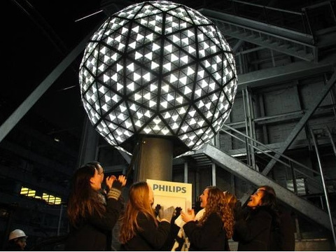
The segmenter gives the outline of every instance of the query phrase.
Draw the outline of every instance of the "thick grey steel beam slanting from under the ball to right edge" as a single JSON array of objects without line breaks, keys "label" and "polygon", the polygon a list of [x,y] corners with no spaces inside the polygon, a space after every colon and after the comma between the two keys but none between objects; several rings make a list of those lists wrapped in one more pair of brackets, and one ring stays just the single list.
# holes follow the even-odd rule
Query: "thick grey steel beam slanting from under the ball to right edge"
[{"label": "thick grey steel beam slanting from under the ball to right edge", "polygon": [[211,158],[213,162],[216,162],[219,167],[226,169],[228,172],[238,176],[241,179],[244,179],[245,181],[253,183],[255,186],[272,186],[272,188],[274,188],[276,191],[276,197],[281,200],[281,202],[288,204],[290,207],[293,207],[293,209],[296,209],[304,216],[310,218],[312,221],[315,221],[316,223],[323,225],[323,227],[330,230],[330,219],[325,211],[319,209],[314,204],[303,200],[294,193],[290,192],[290,190],[283,188],[279,184],[269,179],[267,176],[260,174],[260,172],[256,172],[244,163],[239,162],[239,160],[232,158],[227,153],[224,153],[210,144],[204,146],[204,148],[197,151],[197,153],[204,153],[205,155],[208,155],[209,158]]}]

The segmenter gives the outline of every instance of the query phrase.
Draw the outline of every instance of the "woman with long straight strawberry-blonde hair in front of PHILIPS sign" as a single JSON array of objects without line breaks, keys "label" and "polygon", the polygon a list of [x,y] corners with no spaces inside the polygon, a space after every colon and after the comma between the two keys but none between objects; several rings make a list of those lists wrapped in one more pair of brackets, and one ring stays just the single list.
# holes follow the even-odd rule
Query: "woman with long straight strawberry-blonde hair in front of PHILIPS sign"
[{"label": "woman with long straight strawberry-blonde hair in front of PHILIPS sign", "polygon": [[165,245],[174,209],[166,212],[158,221],[153,203],[153,190],[148,183],[140,181],[130,187],[120,225],[120,243],[125,250],[158,251]]}]

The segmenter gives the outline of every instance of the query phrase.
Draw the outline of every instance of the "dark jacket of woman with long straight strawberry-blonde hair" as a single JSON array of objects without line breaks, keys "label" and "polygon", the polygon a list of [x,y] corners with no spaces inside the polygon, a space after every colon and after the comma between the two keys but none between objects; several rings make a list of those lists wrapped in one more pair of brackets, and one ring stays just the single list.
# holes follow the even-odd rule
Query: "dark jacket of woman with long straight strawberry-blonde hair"
[{"label": "dark jacket of woman with long straight strawberry-blonde hair", "polygon": [[139,212],[137,216],[139,230],[126,244],[123,249],[127,251],[158,251],[165,245],[167,241],[170,223],[162,221],[155,225],[151,218],[147,218],[145,214]]}]

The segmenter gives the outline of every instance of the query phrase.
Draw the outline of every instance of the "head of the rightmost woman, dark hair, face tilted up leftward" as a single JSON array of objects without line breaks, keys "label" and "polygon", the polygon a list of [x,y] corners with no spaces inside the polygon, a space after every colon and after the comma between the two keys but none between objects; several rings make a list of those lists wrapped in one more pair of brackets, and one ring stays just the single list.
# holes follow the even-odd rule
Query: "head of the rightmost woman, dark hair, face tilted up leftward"
[{"label": "head of the rightmost woman, dark hair, face tilted up leftward", "polygon": [[276,207],[276,193],[270,186],[260,186],[247,203],[248,207],[255,209],[255,207],[267,206],[272,209]]}]

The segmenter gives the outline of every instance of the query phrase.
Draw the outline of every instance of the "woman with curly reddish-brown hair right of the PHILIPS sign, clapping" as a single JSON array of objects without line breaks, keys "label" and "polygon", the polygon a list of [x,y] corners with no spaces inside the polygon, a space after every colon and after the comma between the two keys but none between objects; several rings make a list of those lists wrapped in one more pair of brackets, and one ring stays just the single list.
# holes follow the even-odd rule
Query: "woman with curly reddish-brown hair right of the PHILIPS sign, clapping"
[{"label": "woman with curly reddish-brown hair right of the PHILIPS sign, clapping", "polygon": [[189,251],[227,251],[234,218],[232,209],[225,203],[223,191],[208,186],[200,201],[205,210],[199,221],[196,221],[193,209],[181,213],[186,222],[183,230],[190,241]]}]

